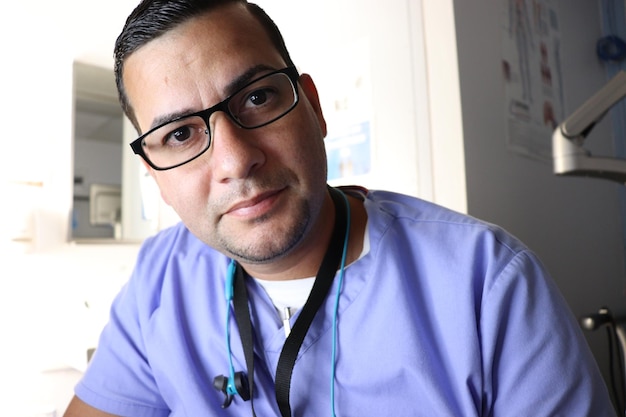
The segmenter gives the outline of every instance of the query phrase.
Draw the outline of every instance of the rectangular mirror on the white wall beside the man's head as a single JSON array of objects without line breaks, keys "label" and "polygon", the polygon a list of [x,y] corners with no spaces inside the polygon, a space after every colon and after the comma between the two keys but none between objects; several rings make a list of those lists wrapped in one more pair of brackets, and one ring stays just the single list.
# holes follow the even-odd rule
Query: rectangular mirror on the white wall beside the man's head
[{"label": "rectangular mirror on the white wall beside the man's head", "polygon": [[74,63],[72,240],[122,237],[124,115],[112,69]]}]

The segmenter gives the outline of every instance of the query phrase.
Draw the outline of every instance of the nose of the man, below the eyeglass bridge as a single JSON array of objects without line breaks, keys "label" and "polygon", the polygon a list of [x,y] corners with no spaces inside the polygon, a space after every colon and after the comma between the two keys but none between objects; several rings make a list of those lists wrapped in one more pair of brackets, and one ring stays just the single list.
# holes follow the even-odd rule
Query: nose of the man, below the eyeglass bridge
[{"label": "nose of the man, below the eyeglass bridge", "polygon": [[265,163],[265,153],[255,131],[237,126],[226,114],[217,112],[209,120],[211,165],[219,182],[244,179]]}]

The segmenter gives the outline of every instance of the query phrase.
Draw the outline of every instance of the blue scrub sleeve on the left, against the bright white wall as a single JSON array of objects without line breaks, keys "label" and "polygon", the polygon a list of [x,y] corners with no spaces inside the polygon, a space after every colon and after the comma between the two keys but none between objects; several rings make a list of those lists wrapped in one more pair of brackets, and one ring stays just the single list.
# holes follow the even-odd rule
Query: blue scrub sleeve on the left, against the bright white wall
[{"label": "blue scrub sleeve on the left, against the bright white wall", "polygon": [[170,410],[159,394],[142,334],[142,323],[156,308],[147,300],[157,297],[146,296],[154,290],[140,287],[140,282],[135,270],[113,302],[109,322],[75,393],[82,401],[108,413],[166,417]]}]

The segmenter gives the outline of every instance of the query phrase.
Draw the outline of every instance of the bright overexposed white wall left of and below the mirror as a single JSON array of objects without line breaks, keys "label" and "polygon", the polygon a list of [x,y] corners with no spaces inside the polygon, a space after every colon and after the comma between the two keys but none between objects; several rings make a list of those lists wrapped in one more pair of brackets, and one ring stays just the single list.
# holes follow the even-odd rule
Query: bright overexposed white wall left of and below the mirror
[{"label": "bright overexposed white wall left of and below the mirror", "polygon": [[[17,3],[3,5],[12,18],[0,25],[0,414],[60,416],[137,248],[67,244],[79,57],[68,27],[53,16],[56,7],[75,9]],[[84,16],[93,16],[90,7]]]}]

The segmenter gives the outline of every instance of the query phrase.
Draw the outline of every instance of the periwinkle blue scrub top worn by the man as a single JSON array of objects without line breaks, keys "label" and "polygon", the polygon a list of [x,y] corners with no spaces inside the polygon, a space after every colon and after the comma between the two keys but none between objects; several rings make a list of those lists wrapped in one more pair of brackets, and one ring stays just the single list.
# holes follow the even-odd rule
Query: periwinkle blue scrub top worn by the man
[{"label": "periwinkle blue scrub top worn by the man", "polygon": [[[399,194],[365,198],[369,252],[339,299],[336,415],[613,416],[575,318],[545,269],[502,229]],[[228,374],[228,259],[182,224],[147,240],[84,378],[83,401],[134,417],[251,415],[221,409]],[[313,321],[291,382],[293,416],[331,415],[334,294]],[[259,417],[280,416],[274,376],[285,334],[249,280]],[[297,319],[297,313],[292,323]],[[246,371],[231,319],[236,371]]]}]

